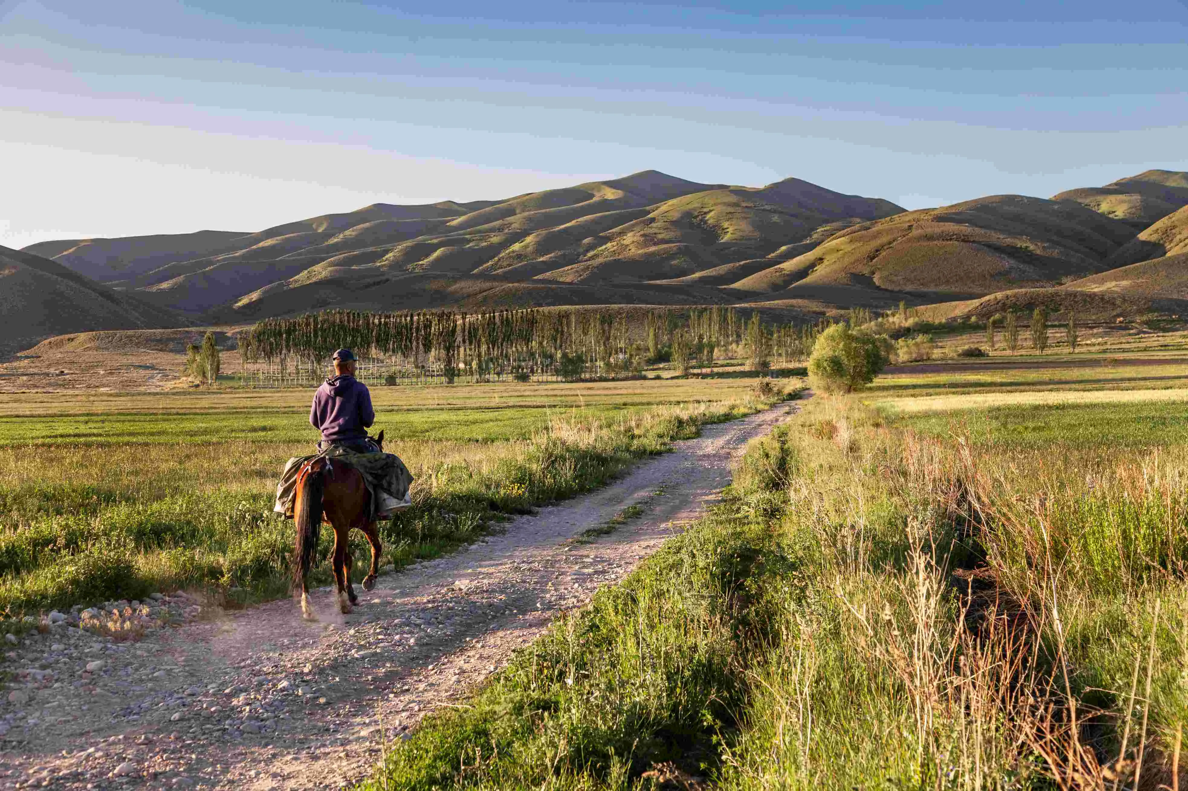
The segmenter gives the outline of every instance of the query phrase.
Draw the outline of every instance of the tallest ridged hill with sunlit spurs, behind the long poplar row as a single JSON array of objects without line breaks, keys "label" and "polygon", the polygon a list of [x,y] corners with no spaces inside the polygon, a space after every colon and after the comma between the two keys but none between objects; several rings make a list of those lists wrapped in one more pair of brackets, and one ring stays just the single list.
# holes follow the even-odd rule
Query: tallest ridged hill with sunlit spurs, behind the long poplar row
[{"label": "tallest ridged hill with sunlit spurs, behind the long poplar row", "polygon": [[[742,188],[643,171],[501,201],[377,203],[229,242],[225,234],[202,251],[154,241],[109,274],[154,305],[207,321],[328,306],[726,304],[735,296],[716,286],[756,267],[682,278],[811,249],[899,211],[800,179]],[[113,241],[131,249],[138,239]],[[45,249],[78,261],[65,242]]]}]

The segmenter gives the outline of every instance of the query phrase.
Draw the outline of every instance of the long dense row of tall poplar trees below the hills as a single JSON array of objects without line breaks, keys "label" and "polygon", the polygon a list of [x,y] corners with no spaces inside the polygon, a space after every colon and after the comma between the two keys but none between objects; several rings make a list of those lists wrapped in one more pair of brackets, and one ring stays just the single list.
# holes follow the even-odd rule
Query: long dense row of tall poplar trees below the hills
[{"label": "long dense row of tall poplar trees below the hills", "polygon": [[678,373],[712,368],[727,356],[748,367],[804,360],[823,325],[767,324],[729,308],[647,310],[422,310],[390,314],[328,310],[268,318],[240,338],[254,374],[316,378],[335,349],[362,357],[362,374],[453,384],[511,376],[621,378],[668,361]]}]

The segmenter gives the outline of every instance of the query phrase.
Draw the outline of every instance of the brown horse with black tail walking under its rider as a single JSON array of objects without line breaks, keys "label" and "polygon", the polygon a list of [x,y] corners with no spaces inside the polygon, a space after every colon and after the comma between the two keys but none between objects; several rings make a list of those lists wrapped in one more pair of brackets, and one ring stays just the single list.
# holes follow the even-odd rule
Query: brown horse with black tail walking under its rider
[{"label": "brown horse with black tail walking under its rider", "polygon": [[[384,432],[372,437],[380,450],[384,448]],[[293,589],[301,588],[302,614],[315,620],[314,609],[309,605],[309,589],[305,578],[314,564],[317,552],[317,539],[322,527],[322,514],[334,527],[334,555],[331,568],[339,609],[349,613],[352,606],[359,603],[359,596],[350,584],[350,529],[364,531],[372,548],[372,564],[364,577],[364,590],[375,587],[375,575],[379,571],[379,553],[381,546],[375,523],[371,521],[371,493],[364,483],[364,476],[354,467],[334,458],[318,457],[307,463],[297,474],[297,493],[293,504],[293,517],[297,521],[297,545],[293,549]]]}]

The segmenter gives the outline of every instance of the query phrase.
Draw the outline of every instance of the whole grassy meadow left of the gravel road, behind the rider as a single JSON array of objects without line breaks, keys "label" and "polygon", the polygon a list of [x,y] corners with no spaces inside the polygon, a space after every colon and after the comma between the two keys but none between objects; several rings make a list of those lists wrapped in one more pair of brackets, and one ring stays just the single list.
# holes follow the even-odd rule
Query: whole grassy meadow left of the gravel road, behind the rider
[{"label": "whole grassy meadow left of the gravel road, behind the rider", "polygon": [[[507,514],[596,487],[703,422],[756,409],[752,384],[377,387],[375,430],[416,476],[413,507],[383,530],[384,562],[434,557]],[[272,498],[284,461],[317,439],[310,398],[12,397],[0,420],[0,613],[177,588],[226,606],[284,595],[292,523],[271,513]]]}]

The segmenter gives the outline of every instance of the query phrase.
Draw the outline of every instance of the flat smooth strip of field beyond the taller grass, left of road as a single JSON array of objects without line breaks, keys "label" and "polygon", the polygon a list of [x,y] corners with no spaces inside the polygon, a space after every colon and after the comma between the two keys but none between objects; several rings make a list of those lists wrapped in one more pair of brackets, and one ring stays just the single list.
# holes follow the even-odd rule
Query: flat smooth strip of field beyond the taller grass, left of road
[{"label": "flat smooth strip of field beyond the taller grass, left of road", "polygon": [[[697,400],[744,396],[750,381],[656,380],[596,385],[377,387],[375,431],[392,441],[503,442],[530,437],[558,417],[615,418]],[[309,391],[14,397],[0,445],[314,442]]]}]

